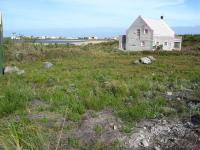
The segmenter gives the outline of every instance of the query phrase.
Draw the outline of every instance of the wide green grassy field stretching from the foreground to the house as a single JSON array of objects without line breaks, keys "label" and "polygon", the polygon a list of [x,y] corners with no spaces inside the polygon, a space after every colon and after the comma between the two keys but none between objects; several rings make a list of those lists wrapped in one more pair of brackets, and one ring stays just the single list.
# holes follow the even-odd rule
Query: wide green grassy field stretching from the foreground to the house
[{"label": "wide green grassy field stretching from the foreground to the house", "polygon": [[[59,138],[51,141],[47,134],[59,133],[60,125],[50,130],[42,124],[60,116],[80,123],[89,110],[112,109],[125,124],[122,132],[144,119],[187,118],[191,110],[163,94],[192,89],[200,97],[200,57],[190,53],[122,53],[117,42],[44,46],[6,41],[4,49],[5,65],[25,74],[0,77],[0,149],[50,149],[52,144],[61,149]],[[156,58],[152,64],[133,63],[149,55]],[[53,67],[44,69],[44,61]],[[38,117],[41,114],[52,118]],[[98,126],[94,130],[102,132]],[[80,147],[73,137],[67,143]]]}]

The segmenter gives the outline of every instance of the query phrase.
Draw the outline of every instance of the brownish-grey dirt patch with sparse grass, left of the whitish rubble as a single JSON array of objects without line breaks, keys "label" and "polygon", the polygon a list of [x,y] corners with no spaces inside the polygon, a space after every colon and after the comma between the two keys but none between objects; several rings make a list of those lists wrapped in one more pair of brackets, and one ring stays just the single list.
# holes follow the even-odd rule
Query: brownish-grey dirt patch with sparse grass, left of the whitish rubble
[{"label": "brownish-grey dirt patch with sparse grass, left of the whitish rubble", "polygon": [[72,130],[64,133],[61,139],[62,149],[70,149],[70,138],[79,141],[80,149],[91,148],[94,143],[100,141],[104,145],[112,145],[118,139],[123,138],[120,132],[122,121],[113,115],[112,110],[101,112],[88,111],[81,122]]}]

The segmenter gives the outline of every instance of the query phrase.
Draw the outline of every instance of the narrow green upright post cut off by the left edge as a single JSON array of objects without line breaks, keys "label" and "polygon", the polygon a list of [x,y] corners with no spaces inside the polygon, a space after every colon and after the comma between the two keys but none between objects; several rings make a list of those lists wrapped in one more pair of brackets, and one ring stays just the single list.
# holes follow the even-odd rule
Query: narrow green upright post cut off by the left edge
[{"label": "narrow green upright post cut off by the left edge", "polygon": [[0,75],[3,75],[3,19],[0,12]]}]

